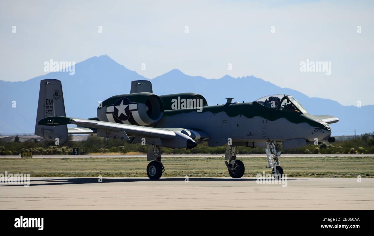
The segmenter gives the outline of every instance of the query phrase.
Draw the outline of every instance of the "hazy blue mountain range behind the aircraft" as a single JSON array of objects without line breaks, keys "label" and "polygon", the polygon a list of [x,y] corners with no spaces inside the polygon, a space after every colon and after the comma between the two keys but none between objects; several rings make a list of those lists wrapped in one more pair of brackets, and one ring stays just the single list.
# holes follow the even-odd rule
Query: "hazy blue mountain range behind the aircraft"
[{"label": "hazy blue mountain range behind the aircraft", "polygon": [[[129,93],[132,80],[149,80],[107,55],[77,63],[74,75],[69,75],[69,72],[50,72],[27,81],[0,80],[0,134],[34,133],[40,80],[49,78],[61,80],[66,115],[78,118],[96,117],[99,101]],[[357,134],[374,131],[371,121],[374,105],[361,108],[343,106],[334,100],[308,97],[299,91],[282,88],[254,76],[233,78],[225,75],[219,79],[206,79],[173,69],[150,81],[156,94],[200,93],[208,105],[223,104],[226,97],[234,97],[233,101],[251,102],[270,94],[289,94],[312,115],[338,117],[339,122],[331,124],[333,136],[352,135],[355,130]],[[349,93],[343,91],[342,94],[349,96]],[[13,101],[16,102],[15,108],[12,107]]]}]

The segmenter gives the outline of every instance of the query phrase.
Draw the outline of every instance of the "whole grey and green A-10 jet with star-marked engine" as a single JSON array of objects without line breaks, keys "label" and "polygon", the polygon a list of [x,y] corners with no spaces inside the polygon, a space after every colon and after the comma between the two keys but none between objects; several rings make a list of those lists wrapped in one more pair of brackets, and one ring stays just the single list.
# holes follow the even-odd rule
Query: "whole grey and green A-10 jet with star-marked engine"
[{"label": "whole grey and green A-10 jet with star-marked engine", "polygon": [[[269,167],[276,177],[281,151],[307,143],[334,142],[328,124],[338,122],[329,115],[310,115],[292,96],[276,94],[254,102],[234,102],[208,106],[196,93],[158,96],[150,81],[132,81],[129,94],[110,97],[99,104],[97,118],[81,119],[65,115],[61,81],[41,80],[35,134],[64,143],[68,134],[97,134],[129,143],[148,145],[150,179],[165,171],[161,147],[196,147],[206,141],[210,147],[226,145],[225,161],[229,174],[240,178],[243,162],[236,159],[236,147],[266,148]],[[76,128],[67,127],[75,124]]]}]

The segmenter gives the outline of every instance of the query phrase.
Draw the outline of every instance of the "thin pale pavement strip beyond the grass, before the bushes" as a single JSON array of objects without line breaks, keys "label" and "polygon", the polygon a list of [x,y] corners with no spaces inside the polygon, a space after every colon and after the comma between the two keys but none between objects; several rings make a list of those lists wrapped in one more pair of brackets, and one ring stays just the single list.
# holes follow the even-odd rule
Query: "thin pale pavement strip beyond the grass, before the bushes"
[{"label": "thin pale pavement strip beyond the grass, before the bushes", "polygon": [[[224,155],[212,155],[212,154],[163,154],[162,157],[220,157]],[[248,154],[248,155],[236,155],[240,157],[266,157],[266,154]],[[373,156],[374,154],[282,154],[283,157],[344,157],[344,156]],[[119,157],[141,157],[146,158],[147,155],[135,154],[135,155],[34,155],[33,158],[119,158]],[[0,158],[21,158],[21,156],[0,156]]]}]

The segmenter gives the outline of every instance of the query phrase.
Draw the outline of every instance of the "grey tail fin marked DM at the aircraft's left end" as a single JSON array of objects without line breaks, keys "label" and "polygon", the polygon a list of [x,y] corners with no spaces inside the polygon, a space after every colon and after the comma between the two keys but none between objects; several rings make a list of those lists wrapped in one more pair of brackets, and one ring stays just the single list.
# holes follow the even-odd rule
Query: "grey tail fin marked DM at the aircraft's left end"
[{"label": "grey tail fin marked DM at the aircraft's left end", "polygon": [[53,141],[56,141],[56,138],[58,138],[59,143],[64,143],[68,138],[67,125],[38,125],[41,119],[52,116],[66,116],[61,81],[53,79],[40,80],[35,134]]}]

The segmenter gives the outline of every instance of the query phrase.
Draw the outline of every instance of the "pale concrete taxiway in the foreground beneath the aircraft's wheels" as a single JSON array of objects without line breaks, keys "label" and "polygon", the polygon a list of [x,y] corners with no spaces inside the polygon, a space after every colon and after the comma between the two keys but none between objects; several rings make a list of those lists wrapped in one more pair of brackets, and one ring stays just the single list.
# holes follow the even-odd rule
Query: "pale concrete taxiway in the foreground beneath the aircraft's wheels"
[{"label": "pale concrete taxiway in the foreground beneath the aircraft's wheels", "polygon": [[374,209],[374,178],[34,177],[0,184],[0,209]]}]

